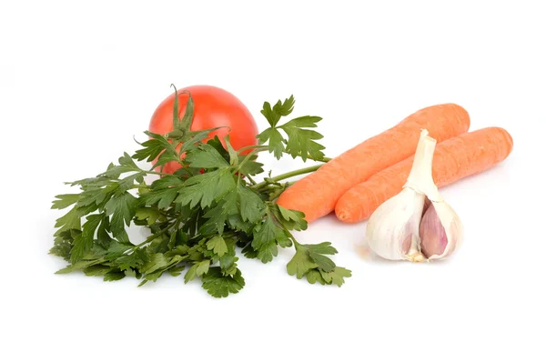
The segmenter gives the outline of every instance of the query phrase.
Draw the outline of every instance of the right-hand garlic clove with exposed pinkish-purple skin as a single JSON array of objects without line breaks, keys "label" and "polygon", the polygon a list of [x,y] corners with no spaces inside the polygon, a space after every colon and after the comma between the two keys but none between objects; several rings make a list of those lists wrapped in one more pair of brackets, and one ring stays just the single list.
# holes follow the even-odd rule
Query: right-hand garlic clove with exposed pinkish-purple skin
[{"label": "right-hand garlic clove with exposed pinkish-purple skin", "polygon": [[432,202],[420,222],[420,247],[429,260],[450,256],[462,240],[462,223],[446,202]]}]

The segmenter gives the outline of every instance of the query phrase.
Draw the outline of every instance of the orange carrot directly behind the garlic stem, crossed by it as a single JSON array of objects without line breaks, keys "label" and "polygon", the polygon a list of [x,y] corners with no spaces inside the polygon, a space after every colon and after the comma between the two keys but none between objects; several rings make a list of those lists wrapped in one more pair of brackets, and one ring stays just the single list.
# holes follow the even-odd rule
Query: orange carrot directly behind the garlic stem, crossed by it
[{"label": "orange carrot directly behind the garlic stem, crossed by it", "polygon": [[[436,186],[450,185],[463,177],[495,166],[512,150],[510,134],[500,127],[482,128],[436,145],[432,178]],[[413,156],[380,171],[339,198],[336,216],[356,223],[371,216],[381,204],[397,195],[410,175]]]}]

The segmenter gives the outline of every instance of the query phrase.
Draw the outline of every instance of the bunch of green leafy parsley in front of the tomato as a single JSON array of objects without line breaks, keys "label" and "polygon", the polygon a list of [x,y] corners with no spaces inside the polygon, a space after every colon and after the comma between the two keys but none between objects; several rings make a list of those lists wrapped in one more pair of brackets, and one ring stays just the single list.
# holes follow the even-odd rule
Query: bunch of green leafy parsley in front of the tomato
[{"label": "bunch of green leafy parsley in front of the tomato", "polygon": [[[264,172],[257,161],[263,151],[277,158],[288,154],[304,161],[328,161],[324,146],[317,142],[322,136],[309,129],[321,118],[301,116],[279,125],[292,113],[294,97],[274,106],[266,102],[261,113],[270,127],[258,135],[259,145],[236,151],[228,137],[226,146],[217,136],[203,142],[217,128],[190,131],[193,99],[188,96],[182,118],[175,96],[172,132],[145,132],[149,140],[139,144],[142,148],[133,156],[125,153],[106,172],[68,183],[79,187],[79,193],[56,196],[52,208],[70,207],[56,220],[50,249],[50,254],[70,264],[56,273],[81,270],[105,281],[136,277],[142,286],[165,273],[179,276],[186,269],[185,283],[199,278],[212,297],[227,297],[245,286],[238,255],[268,263],[278,255],[279,246],[294,246],[296,253],[287,265],[290,276],[340,287],[350,271],[329,258],[337,250],[328,242],[299,244],[291,231],[307,228],[303,213],[274,202],[289,185],[280,181],[319,166],[275,177],[269,172],[260,183],[253,179]],[[153,165],[143,169],[135,160]],[[157,171],[173,161],[182,166],[173,175]],[[160,177],[147,183],[148,175]],[[150,236],[140,244],[131,243],[126,233],[131,225],[147,227]]]}]

